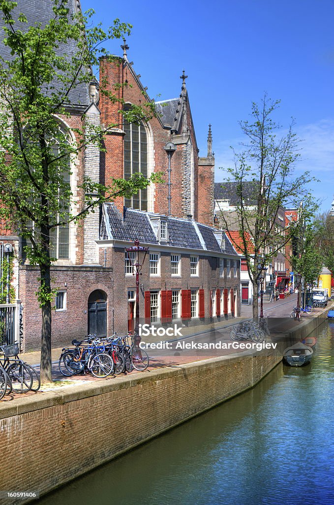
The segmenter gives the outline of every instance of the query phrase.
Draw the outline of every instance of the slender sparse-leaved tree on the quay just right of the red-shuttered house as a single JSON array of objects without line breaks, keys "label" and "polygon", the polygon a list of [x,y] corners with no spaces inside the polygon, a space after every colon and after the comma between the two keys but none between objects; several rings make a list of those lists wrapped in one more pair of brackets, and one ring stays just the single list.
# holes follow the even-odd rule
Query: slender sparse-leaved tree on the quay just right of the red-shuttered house
[{"label": "slender sparse-leaved tree on the quay just right of the red-shuttered house", "polygon": [[[241,121],[240,127],[247,141],[243,150],[234,151],[234,166],[227,169],[229,180],[235,182],[237,204],[233,213],[222,212],[228,231],[238,229],[242,239],[249,278],[253,285],[253,317],[258,316],[258,282],[265,268],[295,233],[296,223],[289,232],[279,222],[279,211],[284,205],[298,207],[307,193],[309,172],[294,175],[294,164],[299,157],[298,139],[293,132],[294,122],[287,133],[272,116],[279,107],[264,94],[261,104],[252,104],[251,121]],[[251,237],[251,240],[249,240]]]}]

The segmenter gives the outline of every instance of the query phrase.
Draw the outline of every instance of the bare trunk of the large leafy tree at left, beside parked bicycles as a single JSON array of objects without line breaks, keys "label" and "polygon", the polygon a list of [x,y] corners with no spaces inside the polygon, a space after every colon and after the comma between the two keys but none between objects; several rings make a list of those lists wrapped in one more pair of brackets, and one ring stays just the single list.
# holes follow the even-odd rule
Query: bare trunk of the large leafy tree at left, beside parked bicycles
[{"label": "bare trunk of the large leafy tree at left, beside parked bicycles", "polygon": [[[41,266],[41,290],[51,293],[50,265]],[[41,335],[41,383],[52,382],[51,371],[51,301],[44,300],[42,309],[42,335]]]}]

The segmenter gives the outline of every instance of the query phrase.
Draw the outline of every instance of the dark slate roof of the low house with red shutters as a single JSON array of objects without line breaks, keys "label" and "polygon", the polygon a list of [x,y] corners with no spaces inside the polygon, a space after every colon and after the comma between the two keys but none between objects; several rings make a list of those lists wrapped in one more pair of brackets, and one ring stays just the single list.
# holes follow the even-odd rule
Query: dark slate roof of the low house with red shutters
[{"label": "dark slate roof of the low house with red shutters", "polygon": [[[124,208],[123,216],[121,216],[113,204],[104,204],[103,209],[100,230],[102,240],[133,242],[138,238],[142,243],[159,244],[151,223],[151,217],[158,215]],[[168,229],[167,245],[236,255],[236,251],[227,237],[225,240],[225,249],[221,249],[215,236],[214,228],[195,223],[195,221],[188,219],[166,216],[164,216],[164,219],[167,221]],[[198,235],[198,230],[201,236]],[[205,247],[203,243],[205,243]]]}]

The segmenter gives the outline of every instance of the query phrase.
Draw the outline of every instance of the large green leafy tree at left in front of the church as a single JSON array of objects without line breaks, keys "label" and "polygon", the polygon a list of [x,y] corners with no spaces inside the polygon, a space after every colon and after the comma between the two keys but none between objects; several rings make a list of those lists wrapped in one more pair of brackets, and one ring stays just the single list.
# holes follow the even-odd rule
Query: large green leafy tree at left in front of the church
[{"label": "large green leafy tree at left in front of the church", "polygon": [[[71,161],[88,145],[102,149],[109,128],[83,118],[73,129],[76,142],[59,126],[59,117],[71,116],[71,93],[78,85],[89,85],[92,68],[106,56],[101,44],[130,32],[131,25],[115,20],[105,32],[100,25],[87,28],[89,11],[71,15],[68,0],[51,0],[53,16],[45,26],[27,25],[24,14],[14,16],[16,2],[0,0],[5,39],[11,57],[0,60],[0,215],[7,226],[27,241],[25,254],[40,271],[38,300],[42,311],[41,381],[51,376],[51,288],[50,266],[55,260],[52,236],[71,222],[79,223],[103,201],[130,197],[149,180],[140,173],[129,180],[114,179],[109,187],[85,177],[77,194],[70,185]],[[14,20],[16,17],[17,21]],[[75,51],[67,47],[75,46]],[[62,49],[62,51],[59,50]],[[100,86],[113,103],[116,96]],[[128,122],[152,117],[154,104],[143,100],[124,113]],[[120,109],[122,103],[119,104]],[[77,208],[76,208],[77,207]],[[75,210],[74,210],[75,209]]]}]

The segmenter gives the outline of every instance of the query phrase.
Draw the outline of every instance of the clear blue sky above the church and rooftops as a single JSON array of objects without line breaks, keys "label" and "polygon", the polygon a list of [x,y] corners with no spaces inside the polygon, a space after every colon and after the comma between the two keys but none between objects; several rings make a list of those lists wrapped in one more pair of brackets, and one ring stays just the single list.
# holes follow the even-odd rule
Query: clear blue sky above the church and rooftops
[{"label": "clear blue sky above the church and rooftops", "polygon": [[[321,210],[334,195],[334,1],[184,0],[178,4],[81,0],[93,8],[95,22],[133,25],[127,38],[129,61],[141,74],[151,98],[179,95],[185,70],[200,155],[207,151],[212,124],[216,181],[231,163],[230,145],[242,140],[239,120],[249,118],[251,103],[264,92],[280,99],[277,122],[291,118],[302,141],[297,170],[309,170]],[[120,41],[106,46],[121,55]],[[157,95],[160,97],[157,98]]]}]

